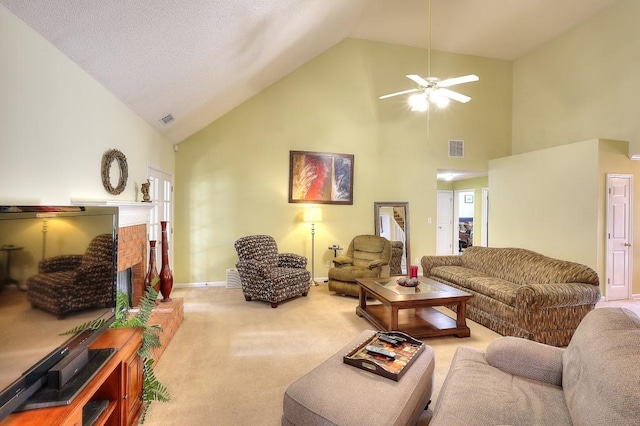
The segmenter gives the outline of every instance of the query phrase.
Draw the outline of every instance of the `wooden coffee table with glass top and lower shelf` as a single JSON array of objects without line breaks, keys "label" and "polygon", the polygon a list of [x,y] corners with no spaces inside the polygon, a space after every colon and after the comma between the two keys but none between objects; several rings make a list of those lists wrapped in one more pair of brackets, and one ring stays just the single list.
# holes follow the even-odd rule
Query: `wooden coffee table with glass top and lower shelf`
[{"label": "wooden coffee table with glass top and lower shelf", "polygon": [[[471,294],[425,277],[419,277],[418,287],[403,287],[397,284],[398,278],[358,278],[360,304],[356,314],[380,330],[403,331],[418,338],[471,336],[466,322]],[[375,301],[369,299],[372,303],[367,304],[367,297]],[[455,320],[433,309],[445,305],[457,306]]]}]

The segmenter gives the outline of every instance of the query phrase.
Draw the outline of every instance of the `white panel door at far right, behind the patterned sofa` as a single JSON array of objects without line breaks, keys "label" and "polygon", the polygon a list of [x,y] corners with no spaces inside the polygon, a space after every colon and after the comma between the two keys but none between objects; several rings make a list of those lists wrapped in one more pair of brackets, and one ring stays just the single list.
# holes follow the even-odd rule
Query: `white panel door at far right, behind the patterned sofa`
[{"label": "white panel door at far right, behind the patterned sofa", "polygon": [[631,295],[632,189],[631,175],[607,175],[607,300]]}]

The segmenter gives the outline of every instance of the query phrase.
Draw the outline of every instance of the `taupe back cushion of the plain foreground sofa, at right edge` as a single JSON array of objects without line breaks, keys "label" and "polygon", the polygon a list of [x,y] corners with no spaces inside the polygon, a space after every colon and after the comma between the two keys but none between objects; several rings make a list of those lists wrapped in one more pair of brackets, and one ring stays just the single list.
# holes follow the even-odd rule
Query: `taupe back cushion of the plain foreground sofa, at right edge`
[{"label": "taupe back cushion of the plain foreground sofa, at right edge", "polygon": [[586,315],[564,353],[562,385],[574,424],[638,424],[640,318],[622,308]]}]

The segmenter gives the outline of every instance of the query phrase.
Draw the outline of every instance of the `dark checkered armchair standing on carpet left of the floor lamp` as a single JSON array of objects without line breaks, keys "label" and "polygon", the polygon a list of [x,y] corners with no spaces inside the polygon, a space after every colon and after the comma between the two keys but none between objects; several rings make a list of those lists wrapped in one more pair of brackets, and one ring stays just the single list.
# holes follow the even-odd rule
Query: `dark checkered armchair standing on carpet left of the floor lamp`
[{"label": "dark checkered armchair standing on carpet left of the floor lamp", "polygon": [[307,258],[278,253],[273,237],[249,235],[236,241],[234,247],[245,300],[264,300],[277,308],[279,302],[309,292],[311,274],[306,269]]}]

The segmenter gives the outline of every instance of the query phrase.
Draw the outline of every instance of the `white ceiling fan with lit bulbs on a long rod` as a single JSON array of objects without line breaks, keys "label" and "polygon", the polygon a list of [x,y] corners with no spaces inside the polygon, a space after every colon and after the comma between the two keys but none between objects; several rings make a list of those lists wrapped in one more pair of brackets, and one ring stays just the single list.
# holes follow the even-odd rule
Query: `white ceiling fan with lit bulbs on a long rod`
[{"label": "white ceiling fan with lit bulbs on a long rod", "polygon": [[431,0],[429,0],[429,43],[427,46],[427,71],[429,77],[423,78],[417,74],[409,74],[407,78],[418,84],[417,88],[402,90],[400,92],[382,95],[379,99],[387,99],[393,96],[405,95],[407,93],[415,93],[409,97],[409,104],[412,111],[426,111],[429,109],[429,102],[433,102],[439,107],[445,107],[449,104],[449,100],[453,99],[461,103],[467,103],[471,98],[462,93],[454,92],[447,87],[457,84],[471,83],[478,81],[480,78],[475,74],[463,75],[461,77],[448,78],[440,80],[431,76]]}]

